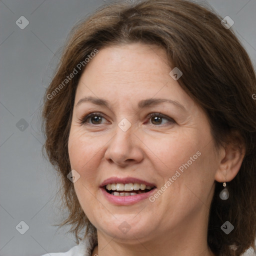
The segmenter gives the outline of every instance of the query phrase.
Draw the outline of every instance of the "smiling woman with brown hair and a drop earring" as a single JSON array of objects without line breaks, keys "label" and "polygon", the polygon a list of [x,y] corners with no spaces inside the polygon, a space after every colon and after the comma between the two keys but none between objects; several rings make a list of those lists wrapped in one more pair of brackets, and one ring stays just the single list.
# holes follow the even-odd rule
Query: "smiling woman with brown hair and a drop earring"
[{"label": "smiling woman with brown hair and a drop earring", "polygon": [[256,78],[221,19],[189,1],[144,0],[74,27],[43,125],[69,210],[61,225],[79,244],[51,255],[253,246]]}]

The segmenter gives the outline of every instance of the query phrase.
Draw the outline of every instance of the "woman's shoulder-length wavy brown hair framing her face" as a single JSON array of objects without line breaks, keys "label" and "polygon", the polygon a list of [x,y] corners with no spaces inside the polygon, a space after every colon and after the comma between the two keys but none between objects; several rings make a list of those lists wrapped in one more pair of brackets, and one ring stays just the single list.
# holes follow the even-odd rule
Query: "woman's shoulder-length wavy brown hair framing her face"
[{"label": "woman's shoulder-length wavy brown hair framing her face", "polygon": [[[215,182],[207,241],[216,255],[240,255],[254,247],[256,233],[256,92],[255,71],[248,54],[233,31],[220,23],[212,10],[185,0],[142,0],[115,2],[96,10],[72,29],[54,77],[46,90],[42,112],[50,162],[61,176],[63,203],[69,211],[60,224],[71,224],[76,241],[85,227],[95,227],[85,216],[76,197],[70,172],[67,141],[74,95],[83,68],[63,84],[93,50],[120,43],[157,44],[166,50],[172,67],[183,75],[180,86],[208,116],[216,146],[227,142],[232,130],[242,136],[246,153],[235,178],[228,182],[229,198],[218,194]],[[56,88],[61,89],[56,91]],[[54,96],[52,92],[55,91]],[[228,235],[220,226],[228,220],[234,230]],[[229,245],[236,245],[233,250]]]}]

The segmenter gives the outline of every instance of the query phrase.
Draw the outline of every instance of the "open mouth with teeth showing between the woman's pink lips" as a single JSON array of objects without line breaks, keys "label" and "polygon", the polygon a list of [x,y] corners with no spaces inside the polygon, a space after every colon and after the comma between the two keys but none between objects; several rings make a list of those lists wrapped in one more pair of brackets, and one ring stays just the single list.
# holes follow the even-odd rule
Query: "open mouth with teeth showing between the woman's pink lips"
[{"label": "open mouth with teeth showing between the woman's pink lips", "polygon": [[144,183],[107,183],[103,188],[107,193],[114,196],[130,196],[147,193],[154,189],[155,186]]}]

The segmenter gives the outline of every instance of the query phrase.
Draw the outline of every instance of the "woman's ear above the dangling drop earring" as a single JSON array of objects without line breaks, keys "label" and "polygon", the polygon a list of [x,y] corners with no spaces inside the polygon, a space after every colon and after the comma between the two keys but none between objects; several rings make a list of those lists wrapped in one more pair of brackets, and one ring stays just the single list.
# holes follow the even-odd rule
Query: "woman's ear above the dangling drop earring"
[{"label": "woman's ear above the dangling drop earring", "polygon": [[245,144],[238,131],[232,130],[219,153],[219,166],[215,173],[218,182],[229,182],[238,173],[245,155]]}]

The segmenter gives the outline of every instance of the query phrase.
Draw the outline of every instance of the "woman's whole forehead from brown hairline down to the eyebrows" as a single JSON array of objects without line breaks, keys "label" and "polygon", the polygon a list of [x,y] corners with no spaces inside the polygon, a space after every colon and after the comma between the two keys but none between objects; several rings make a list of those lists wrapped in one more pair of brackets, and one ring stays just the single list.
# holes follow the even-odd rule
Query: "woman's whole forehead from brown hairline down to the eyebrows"
[{"label": "woman's whole forehead from brown hairline down to the eyebrows", "polygon": [[165,50],[143,43],[105,47],[87,63],[75,103],[84,96],[116,100],[165,97],[192,103],[191,98],[169,75]]}]

